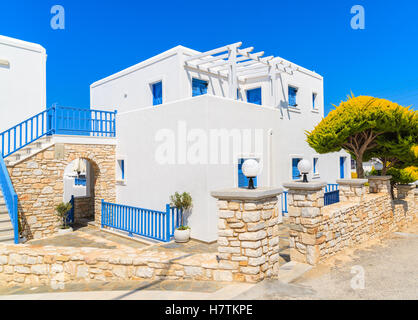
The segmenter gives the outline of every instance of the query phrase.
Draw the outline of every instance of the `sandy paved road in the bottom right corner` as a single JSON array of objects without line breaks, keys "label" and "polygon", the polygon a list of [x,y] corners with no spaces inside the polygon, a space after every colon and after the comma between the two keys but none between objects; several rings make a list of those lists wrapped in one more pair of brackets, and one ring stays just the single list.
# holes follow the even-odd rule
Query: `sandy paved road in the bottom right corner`
[{"label": "sandy paved road in the bottom right corner", "polygon": [[[364,289],[358,281],[360,270],[364,271]],[[418,299],[418,224],[335,256],[293,283],[264,281],[237,298]]]}]

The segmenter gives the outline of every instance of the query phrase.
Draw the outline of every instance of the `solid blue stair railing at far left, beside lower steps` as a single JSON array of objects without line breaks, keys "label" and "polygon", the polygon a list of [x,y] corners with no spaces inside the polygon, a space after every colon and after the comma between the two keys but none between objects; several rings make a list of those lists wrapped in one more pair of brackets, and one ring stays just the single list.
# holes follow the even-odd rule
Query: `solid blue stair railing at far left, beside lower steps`
[{"label": "solid blue stair railing at far left, beside lower steps", "polygon": [[19,243],[18,200],[3,157],[0,157],[0,187],[13,225],[14,242],[17,244]]}]

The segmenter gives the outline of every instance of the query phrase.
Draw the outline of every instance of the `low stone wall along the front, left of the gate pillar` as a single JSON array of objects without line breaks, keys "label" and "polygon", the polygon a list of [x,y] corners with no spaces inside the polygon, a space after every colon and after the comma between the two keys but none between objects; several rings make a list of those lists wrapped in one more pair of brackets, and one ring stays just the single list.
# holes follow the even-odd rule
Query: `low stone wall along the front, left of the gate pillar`
[{"label": "low stone wall along the front, left of the gate pillar", "polygon": [[217,280],[215,254],[0,244],[0,285],[122,280]]}]

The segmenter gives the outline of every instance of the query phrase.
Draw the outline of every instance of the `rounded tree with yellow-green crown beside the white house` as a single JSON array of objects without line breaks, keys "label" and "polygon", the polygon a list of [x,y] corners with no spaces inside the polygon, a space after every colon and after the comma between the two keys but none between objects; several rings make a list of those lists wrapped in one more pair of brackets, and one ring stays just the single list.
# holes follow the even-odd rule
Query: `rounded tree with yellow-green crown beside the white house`
[{"label": "rounded tree with yellow-green crown beside the white house", "polygon": [[[327,117],[308,131],[307,142],[318,153],[349,152],[356,160],[357,177],[364,178],[363,161],[370,158],[389,134],[418,130],[415,111],[385,99],[369,96],[348,97]],[[386,136],[385,136],[386,135]],[[382,138],[379,138],[382,136]],[[409,141],[409,140],[408,140]],[[365,157],[366,156],[366,157]]]}]

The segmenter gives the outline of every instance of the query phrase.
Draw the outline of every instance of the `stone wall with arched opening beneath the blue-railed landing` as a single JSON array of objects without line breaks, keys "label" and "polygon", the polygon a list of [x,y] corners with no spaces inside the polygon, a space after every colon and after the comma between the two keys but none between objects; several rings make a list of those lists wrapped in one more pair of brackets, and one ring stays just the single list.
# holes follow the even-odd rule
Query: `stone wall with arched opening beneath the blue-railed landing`
[{"label": "stone wall with arched opening beneath the blue-railed landing", "polygon": [[87,159],[92,164],[95,221],[100,224],[101,199],[116,200],[115,157],[114,145],[54,144],[9,167],[19,197],[23,235],[39,239],[57,231],[61,222],[54,208],[63,201],[64,169],[77,158]]}]

